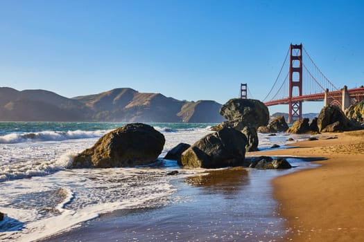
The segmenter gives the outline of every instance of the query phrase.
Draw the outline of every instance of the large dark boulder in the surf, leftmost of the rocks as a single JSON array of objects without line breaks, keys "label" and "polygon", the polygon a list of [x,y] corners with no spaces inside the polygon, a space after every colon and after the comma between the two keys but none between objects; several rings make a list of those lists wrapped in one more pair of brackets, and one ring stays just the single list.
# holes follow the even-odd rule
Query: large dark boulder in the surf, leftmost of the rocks
[{"label": "large dark boulder in the surf, leftmost of the rocks", "polygon": [[134,167],[157,160],[164,136],[147,124],[127,124],[101,137],[73,159],[73,168]]}]

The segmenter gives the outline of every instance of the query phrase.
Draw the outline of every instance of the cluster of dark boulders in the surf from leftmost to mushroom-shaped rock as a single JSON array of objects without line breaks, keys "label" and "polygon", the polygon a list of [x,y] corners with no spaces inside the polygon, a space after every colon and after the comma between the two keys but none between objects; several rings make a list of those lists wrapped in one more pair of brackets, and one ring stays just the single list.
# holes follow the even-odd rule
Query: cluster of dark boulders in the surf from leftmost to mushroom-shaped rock
[{"label": "cluster of dark boulders in the surf from leftmost to mushroom-shaped rock", "polygon": [[[177,160],[182,167],[259,167],[287,168],[280,160],[268,160],[271,165],[245,160],[245,152],[258,147],[257,127],[267,125],[268,108],[258,100],[229,100],[220,109],[226,122],[214,127],[193,145],[180,143],[166,154],[165,159]],[[280,124],[275,124],[279,127]],[[273,127],[273,125],[272,125]],[[100,138],[95,145],[73,159],[73,168],[134,167],[155,162],[164,147],[164,136],[147,124],[127,124]],[[260,160],[259,160],[260,161]],[[267,164],[268,164],[267,163]],[[253,165],[252,165],[253,164]]]}]

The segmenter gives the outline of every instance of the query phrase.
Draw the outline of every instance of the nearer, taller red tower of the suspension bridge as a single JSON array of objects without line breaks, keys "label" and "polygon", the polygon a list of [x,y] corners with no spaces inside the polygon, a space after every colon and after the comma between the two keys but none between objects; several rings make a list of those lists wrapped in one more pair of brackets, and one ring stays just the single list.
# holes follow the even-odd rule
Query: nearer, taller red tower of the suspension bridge
[{"label": "nearer, taller red tower of the suspension bridge", "polygon": [[302,44],[291,44],[290,53],[288,123],[302,118],[302,101],[292,101],[302,95]]}]

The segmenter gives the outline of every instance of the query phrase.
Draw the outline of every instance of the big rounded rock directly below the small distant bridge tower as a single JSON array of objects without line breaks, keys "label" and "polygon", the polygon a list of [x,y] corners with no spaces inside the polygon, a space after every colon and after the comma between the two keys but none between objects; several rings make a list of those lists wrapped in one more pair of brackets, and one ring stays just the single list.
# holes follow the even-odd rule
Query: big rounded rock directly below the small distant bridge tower
[{"label": "big rounded rock directly below the small distant bridge tower", "polygon": [[[241,127],[254,127],[268,124],[269,111],[259,100],[234,98],[221,106],[220,114],[229,121],[237,121]],[[242,130],[242,129],[240,129]]]}]

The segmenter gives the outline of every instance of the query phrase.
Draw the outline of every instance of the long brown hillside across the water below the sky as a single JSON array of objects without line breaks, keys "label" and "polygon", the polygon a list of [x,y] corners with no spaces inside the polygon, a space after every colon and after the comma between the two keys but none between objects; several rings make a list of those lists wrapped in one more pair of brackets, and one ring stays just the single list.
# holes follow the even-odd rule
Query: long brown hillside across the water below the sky
[{"label": "long brown hillside across the water below the sky", "polygon": [[0,88],[1,121],[221,122],[220,106],[129,88],[73,98],[44,90]]}]

